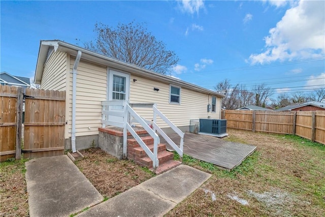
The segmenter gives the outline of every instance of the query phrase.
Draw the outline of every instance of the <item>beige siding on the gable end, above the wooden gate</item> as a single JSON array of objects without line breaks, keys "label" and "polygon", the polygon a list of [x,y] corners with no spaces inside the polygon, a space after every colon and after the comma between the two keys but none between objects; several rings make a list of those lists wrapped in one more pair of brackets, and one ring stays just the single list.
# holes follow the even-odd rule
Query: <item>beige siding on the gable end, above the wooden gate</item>
[{"label": "beige siding on the gable end, above the wooden gate", "polygon": [[42,89],[66,90],[67,53],[52,52],[44,65],[41,80]]}]

